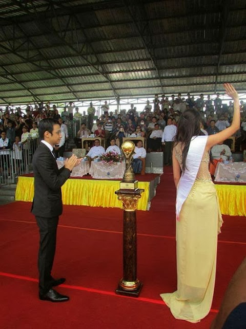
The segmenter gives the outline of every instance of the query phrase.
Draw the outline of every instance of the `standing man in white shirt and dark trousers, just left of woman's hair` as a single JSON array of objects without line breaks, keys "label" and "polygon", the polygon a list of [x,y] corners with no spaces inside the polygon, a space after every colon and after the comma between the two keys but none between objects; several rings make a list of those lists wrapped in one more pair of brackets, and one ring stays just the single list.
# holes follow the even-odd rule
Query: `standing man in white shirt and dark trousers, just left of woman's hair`
[{"label": "standing man in white shirt and dark trousers, just left of woman's hair", "polygon": [[176,125],[172,124],[172,118],[168,118],[166,127],[164,128],[162,135],[162,144],[164,148],[164,164],[165,166],[172,166],[172,145],[173,140],[177,132]]}]

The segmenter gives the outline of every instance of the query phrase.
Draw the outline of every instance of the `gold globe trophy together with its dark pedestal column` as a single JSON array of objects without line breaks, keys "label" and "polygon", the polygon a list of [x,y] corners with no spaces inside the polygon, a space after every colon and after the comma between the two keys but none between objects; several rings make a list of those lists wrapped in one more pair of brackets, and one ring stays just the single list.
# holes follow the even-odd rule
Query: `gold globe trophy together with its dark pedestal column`
[{"label": "gold globe trophy together with its dark pedestal column", "polygon": [[138,181],[132,169],[132,157],[135,144],[127,140],[121,145],[126,160],[126,171],[120,182],[120,189],[115,192],[122,202],[123,215],[123,278],[119,281],[115,293],[131,297],[138,297],[142,283],[137,279],[137,231],[136,210],[137,203],[143,189],[138,188]]}]

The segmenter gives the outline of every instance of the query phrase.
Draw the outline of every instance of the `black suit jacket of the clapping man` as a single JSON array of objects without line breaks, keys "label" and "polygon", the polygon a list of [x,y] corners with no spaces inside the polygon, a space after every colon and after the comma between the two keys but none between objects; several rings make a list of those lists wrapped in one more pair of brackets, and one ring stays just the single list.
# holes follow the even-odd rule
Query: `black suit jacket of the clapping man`
[{"label": "black suit jacket of the clapping man", "polygon": [[40,142],[33,160],[34,198],[32,213],[40,217],[56,217],[63,212],[61,186],[70,177],[65,167],[58,170],[49,148]]}]

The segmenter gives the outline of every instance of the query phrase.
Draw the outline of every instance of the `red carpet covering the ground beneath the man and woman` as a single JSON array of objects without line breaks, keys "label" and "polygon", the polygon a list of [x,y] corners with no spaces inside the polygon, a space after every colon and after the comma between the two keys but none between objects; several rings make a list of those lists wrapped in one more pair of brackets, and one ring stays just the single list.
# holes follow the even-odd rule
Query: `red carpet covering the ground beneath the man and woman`
[{"label": "red carpet covering the ground beneath the man and woman", "polygon": [[[169,170],[170,171],[170,170]],[[122,275],[120,209],[65,206],[58,228],[54,276],[68,303],[37,299],[38,230],[30,203],[0,207],[1,328],[209,328],[224,290],[246,254],[245,217],[223,216],[211,313],[198,324],[175,320],[160,293],[176,288],[175,187],[161,176],[149,212],[137,212],[138,299],[114,294]]]}]

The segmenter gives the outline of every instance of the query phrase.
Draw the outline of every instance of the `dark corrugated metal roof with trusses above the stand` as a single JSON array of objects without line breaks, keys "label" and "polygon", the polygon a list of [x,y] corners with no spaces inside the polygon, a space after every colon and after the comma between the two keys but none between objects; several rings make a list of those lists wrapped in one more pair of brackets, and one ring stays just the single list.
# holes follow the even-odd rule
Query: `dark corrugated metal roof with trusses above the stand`
[{"label": "dark corrugated metal roof with trusses above the stand", "polygon": [[246,0],[0,0],[0,98],[213,93],[223,82],[245,91],[245,8]]}]

